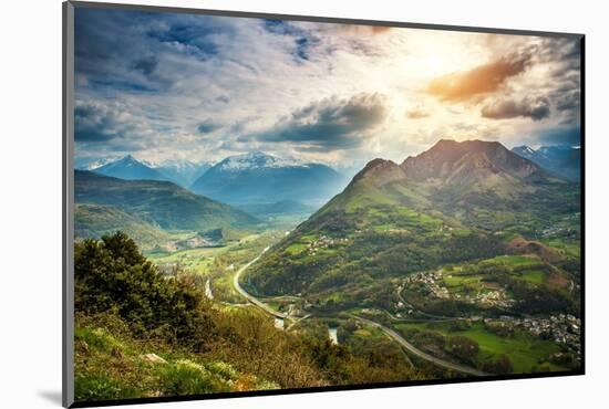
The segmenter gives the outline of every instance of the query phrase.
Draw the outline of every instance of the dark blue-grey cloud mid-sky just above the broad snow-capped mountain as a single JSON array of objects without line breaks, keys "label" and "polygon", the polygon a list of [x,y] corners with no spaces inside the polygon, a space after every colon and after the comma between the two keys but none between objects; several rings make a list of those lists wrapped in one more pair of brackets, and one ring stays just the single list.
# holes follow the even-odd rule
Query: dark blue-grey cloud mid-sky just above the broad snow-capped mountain
[{"label": "dark blue-grey cloud mid-sky just above the broad snow-capped mountain", "polygon": [[300,150],[355,148],[384,122],[386,113],[380,94],[332,97],[297,109],[270,129],[239,140],[291,143]]}]

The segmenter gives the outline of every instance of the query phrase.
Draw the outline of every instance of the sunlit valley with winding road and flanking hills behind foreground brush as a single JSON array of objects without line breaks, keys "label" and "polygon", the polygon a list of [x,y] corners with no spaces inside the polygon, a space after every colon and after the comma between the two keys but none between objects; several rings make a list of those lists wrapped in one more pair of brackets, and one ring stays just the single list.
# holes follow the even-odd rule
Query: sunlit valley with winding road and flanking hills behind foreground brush
[{"label": "sunlit valley with winding road and flanking hills behind foreground brush", "polygon": [[575,370],[579,188],[481,144],[375,159],[317,211],[78,171],[76,235],[123,230],[213,310],[375,360],[382,381]]}]

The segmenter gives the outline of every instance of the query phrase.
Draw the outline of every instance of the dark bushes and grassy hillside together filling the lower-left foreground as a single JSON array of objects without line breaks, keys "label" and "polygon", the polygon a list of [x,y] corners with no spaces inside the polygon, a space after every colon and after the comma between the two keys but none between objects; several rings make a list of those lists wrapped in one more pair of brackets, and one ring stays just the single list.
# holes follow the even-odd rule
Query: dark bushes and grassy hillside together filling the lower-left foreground
[{"label": "dark bushes and grassy hillside together filling the lower-left foreground", "polygon": [[74,261],[78,401],[426,377],[403,356],[213,303],[196,275],[161,274],[121,232],[76,243]]}]

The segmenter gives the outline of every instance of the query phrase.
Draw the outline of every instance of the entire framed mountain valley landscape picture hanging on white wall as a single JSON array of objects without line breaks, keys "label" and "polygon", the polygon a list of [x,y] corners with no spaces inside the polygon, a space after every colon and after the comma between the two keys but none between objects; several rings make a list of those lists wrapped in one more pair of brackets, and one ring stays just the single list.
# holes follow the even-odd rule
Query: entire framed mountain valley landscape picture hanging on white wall
[{"label": "entire framed mountain valley landscape picture hanging on white wall", "polygon": [[63,12],[65,407],[584,374],[582,34]]}]

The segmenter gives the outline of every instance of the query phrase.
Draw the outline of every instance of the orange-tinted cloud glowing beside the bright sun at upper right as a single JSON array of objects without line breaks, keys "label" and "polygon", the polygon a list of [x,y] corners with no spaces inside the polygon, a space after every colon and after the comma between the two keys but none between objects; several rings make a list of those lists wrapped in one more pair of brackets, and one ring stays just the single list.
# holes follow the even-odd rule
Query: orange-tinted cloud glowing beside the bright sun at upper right
[{"label": "orange-tinted cloud glowing beside the bright sun at upper right", "polygon": [[430,82],[427,93],[443,101],[465,101],[493,93],[530,65],[530,51],[513,53],[468,71],[442,75]]}]

